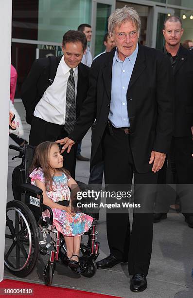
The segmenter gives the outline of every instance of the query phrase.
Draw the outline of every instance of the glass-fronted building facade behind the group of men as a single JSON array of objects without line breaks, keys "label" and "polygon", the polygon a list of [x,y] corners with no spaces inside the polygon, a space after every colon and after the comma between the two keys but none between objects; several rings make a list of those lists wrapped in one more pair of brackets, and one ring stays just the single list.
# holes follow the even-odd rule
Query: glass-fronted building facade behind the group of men
[{"label": "glass-fronted building facade behind the group of men", "polygon": [[193,39],[193,0],[13,0],[11,62],[18,71],[16,98],[35,58],[60,55],[63,34],[81,23],[92,26],[92,56],[104,51],[107,20],[116,8],[134,7],[141,19],[140,43],[162,48],[163,21],[182,18],[185,39]]}]

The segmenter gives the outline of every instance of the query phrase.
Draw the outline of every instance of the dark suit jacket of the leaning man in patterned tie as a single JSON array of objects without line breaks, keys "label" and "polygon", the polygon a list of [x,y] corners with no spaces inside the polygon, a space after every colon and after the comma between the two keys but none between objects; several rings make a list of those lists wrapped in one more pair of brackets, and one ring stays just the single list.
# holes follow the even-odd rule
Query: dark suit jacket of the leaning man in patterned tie
[{"label": "dark suit jacket of the leaning man in patterned tie", "polygon": [[[63,56],[57,57],[57,67]],[[32,69],[22,85],[21,99],[26,110],[26,121],[31,124],[35,106],[49,87],[50,59],[36,59]],[[57,70],[57,68],[56,68]],[[56,72],[55,70],[55,72]],[[90,68],[82,63],[78,65],[78,86],[76,95],[76,117],[80,114],[82,102],[87,97],[88,75]]]}]

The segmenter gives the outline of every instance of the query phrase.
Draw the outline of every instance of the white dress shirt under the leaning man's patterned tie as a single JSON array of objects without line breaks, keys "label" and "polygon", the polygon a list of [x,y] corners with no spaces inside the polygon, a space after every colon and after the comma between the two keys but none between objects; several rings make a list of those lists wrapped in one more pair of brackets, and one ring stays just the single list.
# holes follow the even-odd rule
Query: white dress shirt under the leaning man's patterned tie
[{"label": "white dress shirt under the leaning man's patterned tie", "polygon": [[[73,68],[75,81],[75,98],[78,85],[78,67]],[[54,124],[65,124],[66,116],[66,89],[70,75],[70,67],[62,56],[58,65],[54,81],[44,92],[35,107],[34,116]]]}]

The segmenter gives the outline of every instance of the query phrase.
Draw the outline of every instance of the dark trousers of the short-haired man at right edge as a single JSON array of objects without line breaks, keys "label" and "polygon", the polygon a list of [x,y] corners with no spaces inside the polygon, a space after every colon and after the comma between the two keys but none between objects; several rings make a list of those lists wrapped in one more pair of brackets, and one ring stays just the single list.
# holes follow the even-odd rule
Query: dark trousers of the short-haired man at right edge
[{"label": "dark trousers of the short-haired man at right edge", "polygon": [[[184,216],[193,214],[193,140],[192,137],[173,137],[169,162],[175,165],[174,183],[176,185],[176,196],[179,197],[181,210]],[[174,170],[174,169],[173,169]],[[166,171],[164,171],[166,177]],[[159,180],[159,179],[158,179]],[[168,178],[167,178],[168,181]],[[164,200],[163,196],[158,196],[155,205],[156,213],[167,213],[171,203],[171,187],[165,186]],[[170,195],[171,194],[171,195]]]}]

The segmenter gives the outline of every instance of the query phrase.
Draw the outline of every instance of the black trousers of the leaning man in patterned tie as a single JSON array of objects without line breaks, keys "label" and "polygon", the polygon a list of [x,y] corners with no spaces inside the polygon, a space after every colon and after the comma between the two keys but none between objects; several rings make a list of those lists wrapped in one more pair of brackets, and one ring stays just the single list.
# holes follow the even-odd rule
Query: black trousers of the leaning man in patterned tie
[{"label": "black trousers of the leaning man in patterned tie", "polygon": [[[33,117],[29,136],[30,145],[37,146],[45,141],[55,142],[66,136],[68,136],[68,132],[64,130],[64,125],[50,123],[40,118]],[[67,150],[62,153],[64,156],[64,168],[69,170],[73,179],[75,178],[76,150],[77,144],[72,146],[70,153],[67,153]]]}]

